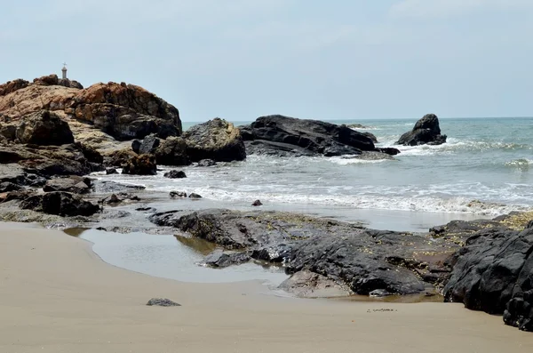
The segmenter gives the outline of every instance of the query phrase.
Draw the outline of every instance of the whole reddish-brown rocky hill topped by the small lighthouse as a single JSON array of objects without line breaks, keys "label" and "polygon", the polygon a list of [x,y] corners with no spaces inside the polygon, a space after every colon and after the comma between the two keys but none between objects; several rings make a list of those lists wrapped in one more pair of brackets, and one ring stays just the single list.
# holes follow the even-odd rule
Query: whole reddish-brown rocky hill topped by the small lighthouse
[{"label": "whole reddish-brown rocky hill topped by the small lighthouse", "polygon": [[29,84],[15,80],[0,85],[0,115],[19,121],[30,113],[53,110],[63,119],[74,118],[117,140],[179,136],[179,111],[155,94],[133,84],[93,84],[83,89],[76,81],[57,76],[36,78]]}]

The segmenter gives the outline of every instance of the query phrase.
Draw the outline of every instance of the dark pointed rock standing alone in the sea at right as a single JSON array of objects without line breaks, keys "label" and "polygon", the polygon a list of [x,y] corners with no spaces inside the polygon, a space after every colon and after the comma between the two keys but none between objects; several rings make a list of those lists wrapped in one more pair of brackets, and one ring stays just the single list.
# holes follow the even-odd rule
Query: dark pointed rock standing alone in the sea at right
[{"label": "dark pointed rock standing alone in the sea at right", "polygon": [[410,132],[405,132],[398,145],[418,146],[418,145],[441,145],[446,142],[446,135],[441,134],[439,118],[434,114],[427,114],[418,120],[415,127]]}]

